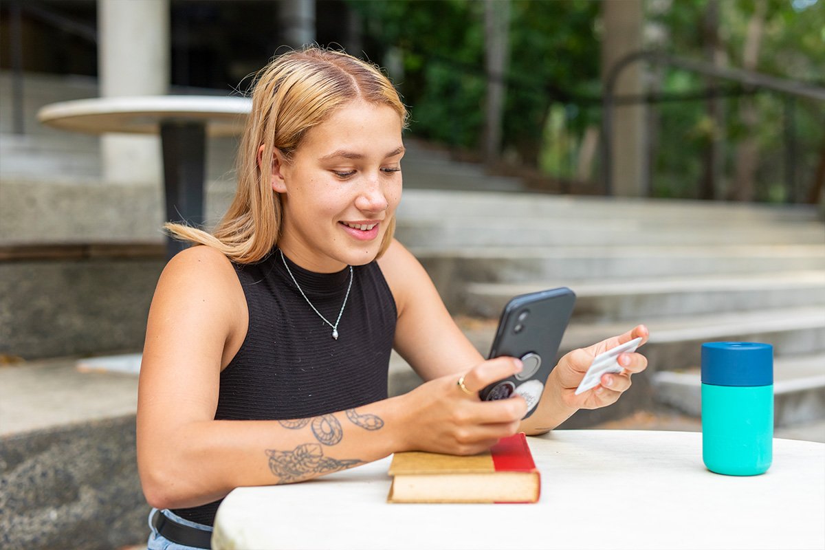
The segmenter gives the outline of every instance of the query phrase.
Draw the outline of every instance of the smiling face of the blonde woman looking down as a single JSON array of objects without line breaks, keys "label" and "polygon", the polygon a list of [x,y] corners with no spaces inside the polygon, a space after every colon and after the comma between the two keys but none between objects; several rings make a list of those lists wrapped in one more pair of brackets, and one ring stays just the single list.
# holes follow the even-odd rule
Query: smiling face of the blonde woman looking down
[{"label": "smiling face of the blonde woman looking down", "polygon": [[292,161],[276,152],[281,250],[319,273],[375,260],[401,199],[401,117],[352,101],[309,129]]}]

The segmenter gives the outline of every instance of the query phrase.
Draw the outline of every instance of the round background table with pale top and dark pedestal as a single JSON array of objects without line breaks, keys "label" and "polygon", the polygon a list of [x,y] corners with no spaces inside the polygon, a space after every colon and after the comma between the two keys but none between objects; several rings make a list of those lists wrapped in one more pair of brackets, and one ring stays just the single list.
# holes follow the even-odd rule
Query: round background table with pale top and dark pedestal
[{"label": "round background table with pale top and dark pedestal", "polygon": [[[240,134],[252,100],[228,96],[97,97],[44,106],[38,120],[87,134],[160,134],[166,218],[204,222],[206,136]],[[167,255],[184,248],[167,240]]]}]

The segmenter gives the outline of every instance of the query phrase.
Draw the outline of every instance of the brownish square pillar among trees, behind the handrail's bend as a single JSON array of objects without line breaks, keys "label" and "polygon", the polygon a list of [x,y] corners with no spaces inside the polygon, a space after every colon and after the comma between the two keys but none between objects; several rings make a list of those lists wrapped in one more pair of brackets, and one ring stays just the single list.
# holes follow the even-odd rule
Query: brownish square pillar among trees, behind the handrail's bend
[{"label": "brownish square pillar among trees, behind the handrail's bend", "polygon": [[[601,80],[627,54],[642,49],[642,0],[601,2],[605,34],[601,41]],[[616,96],[643,93],[643,63],[632,63],[622,71],[614,89]],[[645,106],[616,106],[613,110],[612,151],[613,194],[648,195],[648,175],[644,162]]]}]

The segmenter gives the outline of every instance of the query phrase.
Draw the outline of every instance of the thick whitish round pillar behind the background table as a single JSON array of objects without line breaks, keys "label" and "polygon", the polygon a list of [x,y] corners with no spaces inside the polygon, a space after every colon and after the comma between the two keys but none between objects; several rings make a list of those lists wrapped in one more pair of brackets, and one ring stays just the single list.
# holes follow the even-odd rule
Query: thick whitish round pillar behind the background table
[{"label": "thick whitish round pillar behind the background table", "polygon": [[[100,95],[156,96],[169,88],[169,0],[97,0]],[[158,136],[106,134],[101,168],[107,183],[161,181]]]}]

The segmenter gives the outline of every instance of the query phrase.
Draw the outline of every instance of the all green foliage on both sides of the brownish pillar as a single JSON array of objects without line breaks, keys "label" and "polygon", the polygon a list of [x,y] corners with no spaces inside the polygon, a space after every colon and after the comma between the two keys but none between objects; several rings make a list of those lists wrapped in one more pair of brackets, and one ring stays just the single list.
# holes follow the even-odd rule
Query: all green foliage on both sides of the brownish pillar
[{"label": "all green foliage on both sides of the brownish pillar", "polygon": [[[756,70],[825,86],[825,0],[765,0],[765,25]],[[413,134],[460,148],[478,148],[484,127],[484,2],[479,0],[349,0],[365,22],[370,59],[392,65],[392,74],[412,106]],[[646,24],[663,30],[662,49],[688,59],[708,59],[703,22],[710,0],[646,0]],[[758,0],[719,0],[718,28],[728,66],[742,67],[748,26]],[[570,177],[588,127],[601,119],[599,29],[601,2],[510,0],[510,53],[503,122],[503,148],[544,172]],[[708,79],[684,70],[658,68],[654,89],[701,92]],[[716,82],[733,90],[733,82]],[[724,118],[709,115],[705,100],[672,101],[651,107],[651,185],[657,196],[695,197],[714,139],[724,146],[723,194],[736,167],[736,148],[755,139],[761,200],[787,197],[790,173],[785,131],[793,134],[797,177],[804,187],[825,143],[822,102],[798,100],[789,110],[775,92],[746,92],[720,100]],[[757,122],[742,120],[751,102]],[[789,119],[789,115],[792,119]],[[780,189],[776,187],[780,186]],[[799,196],[804,195],[804,189]]]}]

